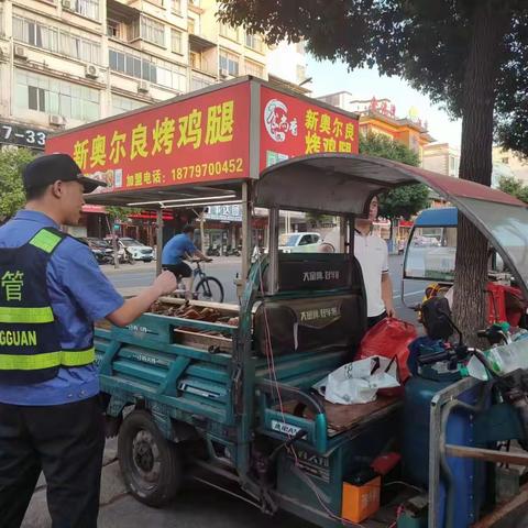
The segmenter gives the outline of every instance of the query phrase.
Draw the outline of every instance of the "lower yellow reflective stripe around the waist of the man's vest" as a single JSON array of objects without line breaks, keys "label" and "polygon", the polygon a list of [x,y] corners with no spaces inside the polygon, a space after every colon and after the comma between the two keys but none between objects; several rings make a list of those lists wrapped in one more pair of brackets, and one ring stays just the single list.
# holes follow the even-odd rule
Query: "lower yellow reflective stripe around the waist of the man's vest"
[{"label": "lower yellow reflective stripe around the waist of the man's vest", "polygon": [[53,366],[82,366],[94,363],[96,349],[46,352],[44,354],[0,354],[0,371],[38,371]]}]

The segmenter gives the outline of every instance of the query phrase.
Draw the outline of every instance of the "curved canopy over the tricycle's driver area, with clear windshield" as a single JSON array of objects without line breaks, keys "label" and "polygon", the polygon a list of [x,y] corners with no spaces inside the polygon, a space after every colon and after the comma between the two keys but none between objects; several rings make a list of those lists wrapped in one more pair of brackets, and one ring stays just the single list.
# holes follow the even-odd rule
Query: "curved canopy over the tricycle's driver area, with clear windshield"
[{"label": "curved canopy over the tricycle's driver area, with clear windshield", "polygon": [[319,154],[266,168],[256,183],[255,206],[366,216],[373,196],[411,184],[425,184],[455,206],[499,253],[528,298],[528,208],[484,185],[388,160]]}]

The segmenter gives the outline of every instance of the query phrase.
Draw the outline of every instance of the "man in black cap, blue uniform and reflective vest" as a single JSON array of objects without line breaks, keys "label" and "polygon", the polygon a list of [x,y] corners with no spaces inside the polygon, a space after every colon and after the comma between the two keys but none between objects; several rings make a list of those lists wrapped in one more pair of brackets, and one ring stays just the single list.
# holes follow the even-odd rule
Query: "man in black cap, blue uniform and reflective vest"
[{"label": "man in black cap, blue uniform and reflective vest", "polygon": [[0,526],[21,525],[43,471],[53,526],[94,528],[105,446],[94,322],[129,324],[176,280],[165,272],[124,301],[59,231],[103,185],[69,156],[34,160],[23,184],[25,209],[0,228]]}]

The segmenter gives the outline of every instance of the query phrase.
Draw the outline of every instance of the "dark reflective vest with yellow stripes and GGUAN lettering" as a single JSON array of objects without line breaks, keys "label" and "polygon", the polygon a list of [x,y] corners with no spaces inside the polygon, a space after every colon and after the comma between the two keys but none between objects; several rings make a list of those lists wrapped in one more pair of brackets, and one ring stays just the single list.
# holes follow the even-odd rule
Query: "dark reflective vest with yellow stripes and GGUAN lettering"
[{"label": "dark reflective vest with yellow stripes and GGUAN lettering", "polygon": [[46,271],[66,237],[45,228],[20,248],[0,249],[0,383],[44,382],[55,377],[61,366],[95,361],[94,345],[61,350]]}]

